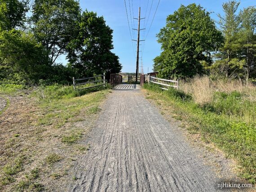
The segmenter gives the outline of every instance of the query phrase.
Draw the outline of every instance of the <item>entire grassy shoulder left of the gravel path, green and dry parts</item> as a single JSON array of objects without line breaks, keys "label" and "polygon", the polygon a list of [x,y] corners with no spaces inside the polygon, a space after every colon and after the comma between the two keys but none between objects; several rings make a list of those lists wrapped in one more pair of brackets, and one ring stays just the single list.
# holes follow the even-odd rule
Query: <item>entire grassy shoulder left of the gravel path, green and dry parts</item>
[{"label": "entire grassy shoulder left of the gravel path, green and dry parts", "polygon": [[84,140],[109,92],[60,85],[36,87],[27,96],[2,90],[10,102],[0,115],[0,190],[61,188],[76,159],[90,149]]}]

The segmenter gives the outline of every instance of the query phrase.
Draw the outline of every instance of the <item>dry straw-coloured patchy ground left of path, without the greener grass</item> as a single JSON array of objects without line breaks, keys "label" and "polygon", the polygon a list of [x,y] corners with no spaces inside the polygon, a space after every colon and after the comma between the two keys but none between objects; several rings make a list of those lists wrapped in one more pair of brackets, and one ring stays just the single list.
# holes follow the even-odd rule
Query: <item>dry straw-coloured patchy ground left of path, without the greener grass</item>
[{"label": "dry straw-coloured patchy ground left of path, without the greener grass", "polygon": [[63,191],[63,183],[72,181],[71,167],[88,151],[89,145],[82,141],[97,113],[88,118],[87,109],[82,109],[56,128],[51,122],[40,124],[49,113],[35,98],[10,96],[9,100],[0,115],[0,191]]}]

